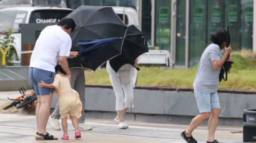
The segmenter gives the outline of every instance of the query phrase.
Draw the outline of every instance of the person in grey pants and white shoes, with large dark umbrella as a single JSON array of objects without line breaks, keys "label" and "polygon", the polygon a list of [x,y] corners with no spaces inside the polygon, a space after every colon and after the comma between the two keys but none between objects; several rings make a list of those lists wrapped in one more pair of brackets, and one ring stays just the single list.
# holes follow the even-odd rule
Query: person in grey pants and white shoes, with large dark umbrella
[{"label": "person in grey pants and white shoes, with large dark umbrella", "polygon": [[[74,19],[76,27],[74,32],[71,34],[72,39],[72,49],[71,51],[80,51],[80,47],[77,46],[79,40],[84,39],[100,39],[104,37],[123,37],[126,32],[126,25],[122,23],[116,13],[113,11],[112,7],[102,7],[102,6],[79,6],[77,9],[72,11],[67,18]],[[115,29],[116,31],[114,31]],[[122,41],[119,41],[119,44],[116,44],[114,47],[119,47],[121,50]],[[106,51],[109,51],[111,47],[107,48]],[[106,57],[107,60],[120,54],[120,50],[117,48],[115,51],[111,51],[110,57],[106,57],[106,51],[98,54],[98,57]],[[97,54],[94,54],[97,55]],[[84,58],[83,58],[84,56]],[[96,70],[104,60],[99,59],[98,57],[92,58],[89,60],[89,55],[80,53],[76,58],[69,59],[69,67],[72,73],[71,86],[79,93],[83,109],[82,116],[78,119],[79,121],[79,130],[92,130],[92,127],[88,127],[85,124],[85,113],[84,108],[86,104],[85,99],[85,76],[84,68],[94,67],[92,69]],[[86,63],[89,63],[91,67],[87,67]],[[97,65],[99,64],[99,65]],[[59,104],[56,105],[56,109],[52,112],[52,115],[49,118],[49,123],[51,127],[60,130],[61,126],[59,123]]]}]

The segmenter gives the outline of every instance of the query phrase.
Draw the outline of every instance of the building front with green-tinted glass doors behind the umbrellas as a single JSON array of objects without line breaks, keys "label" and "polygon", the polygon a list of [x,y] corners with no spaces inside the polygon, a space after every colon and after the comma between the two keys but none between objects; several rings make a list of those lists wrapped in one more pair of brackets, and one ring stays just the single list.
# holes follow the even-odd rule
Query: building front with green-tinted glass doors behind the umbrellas
[{"label": "building front with green-tinted glass doors behind the umbrellas", "polygon": [[[125,6],[137,10],[140,28],[147,42],[169,50],[171,65],[196,65],[210,33],[230,25],[234,50],[251,49],[253,44],[254,0],[66,0],[67,7]],[[256,23],[256,22],[255,22]],[[255,25],[256,26],[256,25]]]}]

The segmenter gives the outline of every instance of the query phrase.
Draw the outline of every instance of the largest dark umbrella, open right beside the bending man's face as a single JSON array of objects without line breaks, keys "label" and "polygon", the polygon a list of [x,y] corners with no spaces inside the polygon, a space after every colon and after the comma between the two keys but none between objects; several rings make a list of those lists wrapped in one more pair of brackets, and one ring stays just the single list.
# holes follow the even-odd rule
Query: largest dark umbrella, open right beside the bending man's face
[{"label": "largest dark umbrella, open right beside the bending man's face", "polygon": [[[66,17],[72,18],[76,22],[76,28],[71,34],[71,51],[79,51],[79,47],[77,48],[79,40],[124,37],[126,34],[126,25],[119,19],[112,7],[79,6]],[[99,67],[102,61],[106,62],[106,60],[112,58],[113,55],[121,54],[122,42],[123,40],[119,40],[112,46],[104,48],[103,51],[99,51],[98,56],[101,62],[91,61],[94,62],[92,64]],[[105,54],[105,59],[102,59],[102,53]],[[86,61],[88,62],[88,59],[86,59]],[[84,67],[83,58],[79,56],[69,59],[69,66]]]}]

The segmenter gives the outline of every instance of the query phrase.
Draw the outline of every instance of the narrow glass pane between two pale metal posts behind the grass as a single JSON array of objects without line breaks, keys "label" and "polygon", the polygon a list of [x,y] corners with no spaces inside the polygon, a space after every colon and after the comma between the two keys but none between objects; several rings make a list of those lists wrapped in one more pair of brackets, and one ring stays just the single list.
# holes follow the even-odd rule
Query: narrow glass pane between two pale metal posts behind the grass
[{"label": "narrow glass pane between two pale metal posts behind the grass", "polygon": [[175,65],[185,65],[185,1],[177,1]]}]

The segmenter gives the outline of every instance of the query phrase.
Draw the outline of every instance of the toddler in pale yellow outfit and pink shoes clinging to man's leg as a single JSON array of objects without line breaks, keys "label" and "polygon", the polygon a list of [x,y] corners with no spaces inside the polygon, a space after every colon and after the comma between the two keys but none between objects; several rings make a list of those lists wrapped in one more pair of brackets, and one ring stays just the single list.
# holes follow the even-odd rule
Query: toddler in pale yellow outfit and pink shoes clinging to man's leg
[{"label": "toddler in pale yellow outfit and pink shoes clinging to man's leg", "polygon": [[81,132],[78,130],[77,119],[81,116],[82,103],[79,98],[79,94],[76,90],[71,88],[69,78],[67,78],[65,71],[61,68],[61,65],[55,67],[54,82],[52,84],[46,84],[41,81],[38,85],[45,88],[55,88],[55,94],[59,98],[59,114],[61,114],[61,125],[63,129],[63,136],[61,139],[69,139],[67,134],[67,115],[72,120],[72,124],[76,130],[75,138],[81,138]]}]

